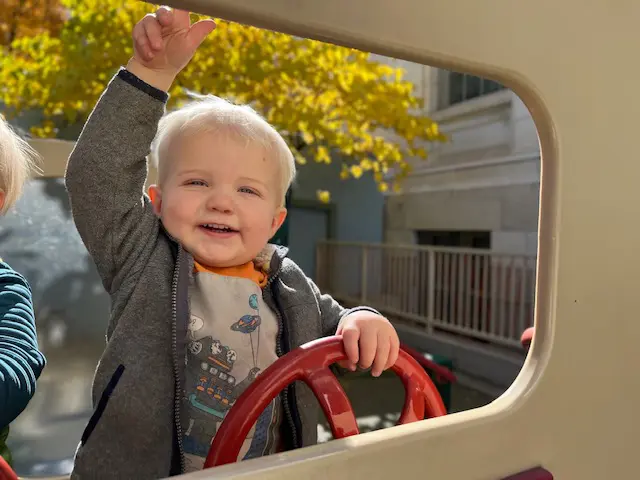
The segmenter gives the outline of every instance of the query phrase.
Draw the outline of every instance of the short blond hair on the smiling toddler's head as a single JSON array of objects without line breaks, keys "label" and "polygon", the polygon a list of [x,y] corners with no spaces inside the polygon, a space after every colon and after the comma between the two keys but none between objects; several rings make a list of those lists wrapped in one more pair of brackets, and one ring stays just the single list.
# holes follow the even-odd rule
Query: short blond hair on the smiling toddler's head
[{"label": "short blond hair on the smiling toddler's head", "polygon": [[281,201],[296,175],[293,154],[280,133],[249,105],[235,105],[213,95],[194,95],[198,100],[165,115],[154,140],[153,160],[159,183],[166,174],[165,157],[177,135],[189,133],[226,133],[240,141],[256,143],[279,167]]}]

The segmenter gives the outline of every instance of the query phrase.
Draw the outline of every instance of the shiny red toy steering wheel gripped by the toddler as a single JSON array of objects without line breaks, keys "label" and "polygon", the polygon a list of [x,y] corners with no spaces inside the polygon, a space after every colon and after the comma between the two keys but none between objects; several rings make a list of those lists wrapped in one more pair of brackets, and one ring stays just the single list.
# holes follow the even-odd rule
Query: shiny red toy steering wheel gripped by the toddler
[{"label": "shiny red toy steering wheel gripped by the toddler", "polygon": [[[269,403],[290,383],[304,381],[318,399],[334,438],[359,432],[351,403],[329,366],[345,360],[342,337],[326,337],[302,345],[276,360],[249,385],[226,415],[215,435],[204,468],[234,463],[251,427]],[[404,350],[391,369],[406,391],[398,425],[447,414],[435,385]]]}]

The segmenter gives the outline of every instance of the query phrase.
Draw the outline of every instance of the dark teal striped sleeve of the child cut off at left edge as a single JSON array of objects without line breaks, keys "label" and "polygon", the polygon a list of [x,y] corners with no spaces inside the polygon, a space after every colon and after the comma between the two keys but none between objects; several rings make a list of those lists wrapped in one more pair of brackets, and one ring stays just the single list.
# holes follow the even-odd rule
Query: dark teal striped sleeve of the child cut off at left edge
[{"label": "dark teal striped sleeve of the child cut off at left edge", "polygon": [[31,302],[22,275],[0,264],[0,430],[27,406],[45,366]]}]

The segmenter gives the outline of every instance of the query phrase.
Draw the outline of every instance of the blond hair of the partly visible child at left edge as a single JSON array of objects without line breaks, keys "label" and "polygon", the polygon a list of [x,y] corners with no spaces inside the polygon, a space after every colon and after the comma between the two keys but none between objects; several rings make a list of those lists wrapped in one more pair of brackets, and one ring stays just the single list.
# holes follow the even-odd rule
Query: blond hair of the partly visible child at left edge
[{"label": "blond hair of the partly visible child at left edge", "polygon": [[0,115],[0,189],[5,194],[0,214],[16,203],[38,160],[36,151]]}]

